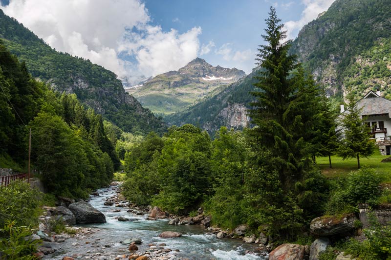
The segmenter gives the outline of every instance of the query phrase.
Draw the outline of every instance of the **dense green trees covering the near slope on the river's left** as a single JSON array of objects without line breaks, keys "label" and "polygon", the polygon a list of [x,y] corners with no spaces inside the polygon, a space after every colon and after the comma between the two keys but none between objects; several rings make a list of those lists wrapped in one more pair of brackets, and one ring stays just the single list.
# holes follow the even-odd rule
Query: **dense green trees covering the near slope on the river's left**
[{"label": "dense green trees covering the near slope on the river's left", "polygon": [[2,158],[25,164],[31,128],[32,164],[49,192],[86,197],[87,189],[109,183],[119,160],[101,115],[34,80],[2,44],[0,81]]}]

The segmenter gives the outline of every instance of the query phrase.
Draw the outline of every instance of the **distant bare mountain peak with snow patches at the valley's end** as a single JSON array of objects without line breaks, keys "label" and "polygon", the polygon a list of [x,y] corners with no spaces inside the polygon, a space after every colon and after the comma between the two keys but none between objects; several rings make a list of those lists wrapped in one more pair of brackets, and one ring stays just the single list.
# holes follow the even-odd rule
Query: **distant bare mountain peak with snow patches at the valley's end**
[{"label": "distant bare mountain peak with snow patches at the valley's end", "polygon": [[236,68],[212,66],[196,58],[178,71],[169,71],[127,88],[143,106],[152,112],[171,114],[182,111],[213,93],[238,81],[246,74]]}]

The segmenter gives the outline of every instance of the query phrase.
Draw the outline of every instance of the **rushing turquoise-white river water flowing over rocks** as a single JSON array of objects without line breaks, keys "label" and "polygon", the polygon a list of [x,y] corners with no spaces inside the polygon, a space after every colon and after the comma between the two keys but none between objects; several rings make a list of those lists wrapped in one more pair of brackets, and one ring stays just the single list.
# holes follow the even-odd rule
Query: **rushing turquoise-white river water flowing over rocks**
[{"label": "rushing turquoise-white river water flowing over rocks", "polygon": [[[246,250],[255,248],[254,244],[245,244],[242,240],[217,239],[216,235],[208,234],[199,225],[169,225],[169,220],[146,220],[147,215],[128,213],[128,208],[105,206],[106,198],[116,195],[117,186],[98,190],[100,196],[92,196],[89,203],[106,216],[106,223],[82,225],[91,229],[91,234],[78,235],[75,238],[59,243],[61,249],[54,254],[46,255],[44,259],[61,260],[64,256],[74,256],[78,259],[107,257],[113,259],[117,255],[127,254],[128,245],[120,243],[128,238],[141,238],[139,251],[149,248],[149,243],[165,243],[165,248],[173,250],[176,259],[215,259],[215,260],[264,260],[261,256],[245,254]],[[110,212],[120,209],[120,212]],[[131,221],[118,221],[118,217]],[[159,238],[164,231],[175,231],[182,234],[179,238]],[[179,252],[174,252],[179,250]]]}]

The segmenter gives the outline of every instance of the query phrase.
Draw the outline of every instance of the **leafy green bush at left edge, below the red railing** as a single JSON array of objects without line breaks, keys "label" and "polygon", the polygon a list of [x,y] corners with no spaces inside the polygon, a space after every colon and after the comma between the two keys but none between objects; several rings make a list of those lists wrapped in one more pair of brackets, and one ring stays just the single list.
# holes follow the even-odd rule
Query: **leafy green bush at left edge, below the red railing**
[{"label": "leafy green bush at left edge, below the red railing", "polygon": [[31,189],[30,184],[21,180],[12,181],[8,186],[0,186],[0,223],[15,221],[17,226],[38,224],[39,208],[43,194]]}]

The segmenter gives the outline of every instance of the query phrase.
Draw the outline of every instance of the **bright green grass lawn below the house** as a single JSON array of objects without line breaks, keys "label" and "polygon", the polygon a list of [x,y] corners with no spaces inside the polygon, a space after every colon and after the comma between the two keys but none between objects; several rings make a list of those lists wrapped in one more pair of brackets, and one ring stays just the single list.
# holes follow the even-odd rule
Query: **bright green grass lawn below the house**
[{"label": "bright green grass lawn below the house", "polygon": [[[360,157],[360,166],[368,166],[375,169],[378,173],[385,175],[386,179],[391,181],[391,162],[380,162],[389,156],[382,156],[380,153],[372,155],[368,159]],[[351,171],[357,171],[357,159],[342,160],[341,157],[332,156],[331,166],[328,165],[328,157],[317,157],[316,163],[319,165],[322,173],[329,178],[344,176]]]}]

